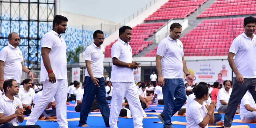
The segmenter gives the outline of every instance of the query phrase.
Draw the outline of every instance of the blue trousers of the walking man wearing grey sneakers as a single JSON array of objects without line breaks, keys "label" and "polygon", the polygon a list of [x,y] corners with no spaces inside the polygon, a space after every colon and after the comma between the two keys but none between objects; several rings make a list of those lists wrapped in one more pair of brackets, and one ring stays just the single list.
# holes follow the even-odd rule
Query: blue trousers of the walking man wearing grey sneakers
[{"label": "blue trousers of the walking man wearing grey sneakers", "polygon": [[185,84],[182,79],[165,79],[165,86],[162,90],[165,125],[171,125],[171,117],[181,109],[187,100]]}]

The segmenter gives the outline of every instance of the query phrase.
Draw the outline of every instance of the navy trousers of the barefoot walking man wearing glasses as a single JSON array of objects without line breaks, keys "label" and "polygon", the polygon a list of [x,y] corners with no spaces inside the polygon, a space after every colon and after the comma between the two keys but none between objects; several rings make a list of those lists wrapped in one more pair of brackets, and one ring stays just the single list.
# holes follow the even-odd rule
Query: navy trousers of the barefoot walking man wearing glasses
[{"label": "navy trousers of the barefoot walking man wearing glasses", "polygon": [[98,84],[100,87],[97,87],[91,77],[85,76],[85,86],[84,86],[84,95],[82,100],[81,112],[80,112],[80,121],[78,126],[87,124],[88,114],[90,112],[91,104],[97,97],[97,102],[99,104],[101,115],[104,119],[106,127],[109,127],[109,114],[110,109],[108,102],[106,102],[106,88],[104,78],[97,78],[99,80]]}]

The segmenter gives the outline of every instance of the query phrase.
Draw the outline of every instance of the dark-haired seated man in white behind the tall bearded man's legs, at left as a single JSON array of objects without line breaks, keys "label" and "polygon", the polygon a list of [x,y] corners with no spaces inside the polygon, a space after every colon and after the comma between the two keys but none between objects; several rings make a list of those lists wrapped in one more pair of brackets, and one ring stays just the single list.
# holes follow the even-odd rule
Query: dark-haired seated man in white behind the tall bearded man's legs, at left
[{"label": "dark-haired seated man in white behind the tall bearded man's legs, at left", "polygon": [[22,107],[26,109],[23,114],[29,115],[31,113],[35,91],[32,88],[32,80],[30,78],[23,80],[22,85],[19,88],[19,99],[22,101]]}]

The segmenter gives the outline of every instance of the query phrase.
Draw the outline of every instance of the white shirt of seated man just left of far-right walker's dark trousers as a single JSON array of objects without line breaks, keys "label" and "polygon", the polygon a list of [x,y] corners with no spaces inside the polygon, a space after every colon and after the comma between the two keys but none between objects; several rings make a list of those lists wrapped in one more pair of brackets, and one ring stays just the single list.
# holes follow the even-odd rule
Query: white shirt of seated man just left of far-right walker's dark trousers
[{"label": "white shirt of seated man just left of far-right walker's dark trousers", "polygon": [[228,100],[230,98],[232,88],[229,89],[229,93],[225,90],[225,88],[219,90],[218,96],[217,96],[217,106],[216,109],[218,110],[219,107],[224,106],[221,104],[221,100],[224,100],[225,102],[228,103]]}]

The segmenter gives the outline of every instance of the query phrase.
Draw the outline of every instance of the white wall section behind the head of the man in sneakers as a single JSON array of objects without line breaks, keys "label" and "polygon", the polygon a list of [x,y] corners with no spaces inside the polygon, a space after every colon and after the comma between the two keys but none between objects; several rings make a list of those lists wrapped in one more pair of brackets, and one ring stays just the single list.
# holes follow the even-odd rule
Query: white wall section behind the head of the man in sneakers
[{"label": "white wall section behind the head of the man in sneakers", "polygon": [[188,20],[182,19],[182,20],[171,20],[168,22],[168,24],[163,25],[160,29],[157,30],[155,33],[156,43],[158,44],[163,38],[165,38],[167,35],[170,34],[170,26],[172,23],[180,23],[182,25],[182,31],[185,30],[188,27]]}]

